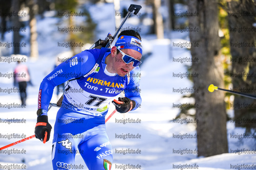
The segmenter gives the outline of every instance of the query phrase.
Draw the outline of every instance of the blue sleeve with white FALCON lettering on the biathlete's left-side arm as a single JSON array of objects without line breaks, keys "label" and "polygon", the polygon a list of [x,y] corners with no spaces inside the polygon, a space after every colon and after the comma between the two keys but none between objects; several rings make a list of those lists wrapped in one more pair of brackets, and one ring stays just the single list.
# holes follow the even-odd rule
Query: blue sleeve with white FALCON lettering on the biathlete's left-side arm
[{"label": "blue sleeve with white FALCON lettering on the biathlete's left-side arm", "polygon": [[48,106],[55,86],[72,78],[79,78],[86,75],[95,63],[96,60],[92,53],[83,51],[82,53],[61,63],[49,75],[47,75],[43,79],[38,93],[38,109],[43,109],[42,115],[47,115]]}]

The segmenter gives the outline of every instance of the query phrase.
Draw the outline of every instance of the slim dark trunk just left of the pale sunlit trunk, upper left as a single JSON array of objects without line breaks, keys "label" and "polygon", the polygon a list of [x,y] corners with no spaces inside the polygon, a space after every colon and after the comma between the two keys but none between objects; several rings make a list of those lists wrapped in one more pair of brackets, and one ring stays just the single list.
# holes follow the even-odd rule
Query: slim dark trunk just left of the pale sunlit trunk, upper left
[{"label": "slim dark trunk just left of the pale sunlit trunk, upper left", "polygon": [[[14,12],[19,11],[19,0],[12,0],[12,8]],[[21,28],[21,22],[19,22],[17,15],[12,16],[12,21],[13,21],[13,27]],[[21,35],[19,35],[19,32],[13,31],[13,42],[16,44],[19,44],[20,41],[21,41]],[[13,47],[13,54],[19,54],[19,53],[20,53],[19,45],[15,45]]]}]

